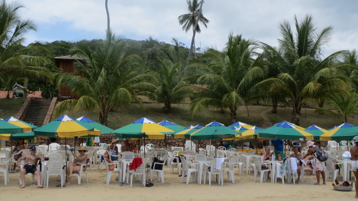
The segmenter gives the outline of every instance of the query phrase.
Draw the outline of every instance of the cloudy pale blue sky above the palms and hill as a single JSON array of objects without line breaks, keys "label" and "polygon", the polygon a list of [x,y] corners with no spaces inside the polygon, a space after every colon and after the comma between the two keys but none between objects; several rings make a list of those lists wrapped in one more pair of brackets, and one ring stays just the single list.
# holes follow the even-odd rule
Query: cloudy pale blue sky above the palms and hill
[{"label": "cloudy pale blue sky above the palms and hill", "polygon": [[[8,2],[11,2],[8,0]],[[105,0],[18,0],[23,18],[38,24],[37,32],[26,37],[35,40],[70,42],[103,39],[107,27]],[[171,38],[190,47],[192,33],[185,33],[178,16],[188,13],[185,0],[108,0],[111,28],[125,38],[144,40],[149,36],[171,43]],[[254,37],[277,45],[278,24],[294,15],[302,19],[314,16],[319,28],[333,26],[332,43],[326,54],[358,47],[358,1],[356,0],[205,0],[203,15],[210,20],[208,28],[196,34],[195,46],[224,47],[229,32]],[[293,27],[292,27],[293,28]]]}]

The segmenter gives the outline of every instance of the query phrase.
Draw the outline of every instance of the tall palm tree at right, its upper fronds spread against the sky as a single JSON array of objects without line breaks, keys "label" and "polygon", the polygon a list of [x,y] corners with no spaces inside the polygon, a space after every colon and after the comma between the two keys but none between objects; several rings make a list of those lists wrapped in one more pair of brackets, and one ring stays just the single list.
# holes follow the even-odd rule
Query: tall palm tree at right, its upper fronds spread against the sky
[{"label": "tall palm tree at right, its upper fronds spread against the sky", "polygon": [[332,27],[318,29],[313,17],[306,15],[298,22],[295,16],[296,33],[290,23],[280,23],[279,48],[264,44],[266,50],[275,55],[279,68],[278,78],[286,83],[283,96],[292,101],[291,122],[299,125],[301,107],[309,99],[319,100],[329,94],[344,93],[349,82],[345,76],[335,73],[338,58],[347,51],[338,51],[323,57],[324,47],[330,42]]}]

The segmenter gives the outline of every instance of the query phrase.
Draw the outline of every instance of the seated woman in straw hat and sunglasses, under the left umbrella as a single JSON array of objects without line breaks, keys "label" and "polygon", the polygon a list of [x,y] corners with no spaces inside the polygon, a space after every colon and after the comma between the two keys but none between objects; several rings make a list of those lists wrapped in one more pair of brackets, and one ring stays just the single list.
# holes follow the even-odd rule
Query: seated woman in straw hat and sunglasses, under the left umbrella
[{"label": "seated woman in straw hat and sunglasses, under the left umbrella", "polygon": [[68,181],[67,183],[64,184],[65,186],[71,185],[71,178],[73,177],[72,173],[81,171],[81,165],[87,163],[87,154],[84,154],[84,152],[88,152],[88,150],[84,148],[84,146],[80,146],[76,150],[78,150],[79,155],[76,155],[73,152],[71,152],[71,154],[74,157],[74,160],[73,162],[68,163],[68,167],[66,169],[68,175]]}]

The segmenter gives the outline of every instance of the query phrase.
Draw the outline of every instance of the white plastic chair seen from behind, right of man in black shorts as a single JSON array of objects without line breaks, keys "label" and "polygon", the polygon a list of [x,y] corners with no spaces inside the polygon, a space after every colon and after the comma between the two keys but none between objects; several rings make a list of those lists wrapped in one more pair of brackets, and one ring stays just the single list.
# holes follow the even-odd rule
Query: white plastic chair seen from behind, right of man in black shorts
[{"label": "white plastic chair seen from behind, right of man in black shorts", "polygon": [[48,159],[46,165],[46,188],[48,188],[48,180],[50,175],[60,175],[61,177],[61,187],[64,183],[64,164],[62,157],[52,157]]}]

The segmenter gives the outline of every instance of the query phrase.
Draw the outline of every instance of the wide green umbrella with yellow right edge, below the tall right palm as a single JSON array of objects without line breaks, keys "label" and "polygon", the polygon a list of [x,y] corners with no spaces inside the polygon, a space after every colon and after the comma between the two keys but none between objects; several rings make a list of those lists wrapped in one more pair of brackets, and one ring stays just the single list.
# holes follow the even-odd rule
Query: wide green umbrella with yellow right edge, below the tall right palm
[{"label": "wide green umbrella with yellow right edge, below the tall right palm", "polygon": [[283,123],[258,131],[259,138],[287,139],[287,140],[313,140],[313,135],[297,128],[294,125]]}]

